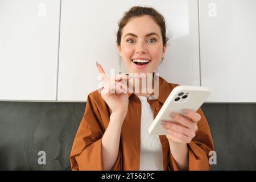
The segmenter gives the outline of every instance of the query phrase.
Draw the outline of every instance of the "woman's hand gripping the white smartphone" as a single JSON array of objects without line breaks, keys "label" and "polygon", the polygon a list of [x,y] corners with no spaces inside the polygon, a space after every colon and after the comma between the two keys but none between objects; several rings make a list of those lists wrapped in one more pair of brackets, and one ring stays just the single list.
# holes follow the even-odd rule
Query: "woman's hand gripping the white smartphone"
[{"label": "woman's hand gripping the white smartphone", "polygon": [[[183,114],[171,112],[170,121],[162,120],[161,122],[161,125],[169,133],[166,135],[169,141],[190,143],[196,137],[196,131],[198,129],[197,122],[200,121],[201,115],[189,109],[183,111]],[[171,117],[172,114],[174,114],[174,117]]]}]

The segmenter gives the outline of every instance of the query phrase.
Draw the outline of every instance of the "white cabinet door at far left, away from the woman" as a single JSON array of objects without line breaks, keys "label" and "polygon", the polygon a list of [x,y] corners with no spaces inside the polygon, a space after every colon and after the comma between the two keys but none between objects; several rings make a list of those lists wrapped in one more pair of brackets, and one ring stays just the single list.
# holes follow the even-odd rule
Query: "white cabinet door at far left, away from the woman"
[{"label": "white cabinet door at far left, away from the woman", "polygon": [[60,1],[0,1],[0,100],[55,101]]}]

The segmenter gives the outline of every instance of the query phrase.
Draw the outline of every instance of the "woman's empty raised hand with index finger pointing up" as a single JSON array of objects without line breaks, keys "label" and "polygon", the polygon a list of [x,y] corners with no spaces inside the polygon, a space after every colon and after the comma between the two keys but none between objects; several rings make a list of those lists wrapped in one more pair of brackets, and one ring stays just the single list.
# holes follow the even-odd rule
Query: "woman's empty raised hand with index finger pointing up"
[{"label": "woman's empty raised hand with index finger pointing up", "polygon": [[117,75],[113,78],[108,78],[104,69],[100,64],[97,64],[98,71],[101,74],[101,79],[104,82],[104,89],[101,90],[101,97],[112,110],[112,113],[121,114],[123,119],[126,116],[129,98],[126,80],[129,79],[127,75]]}]

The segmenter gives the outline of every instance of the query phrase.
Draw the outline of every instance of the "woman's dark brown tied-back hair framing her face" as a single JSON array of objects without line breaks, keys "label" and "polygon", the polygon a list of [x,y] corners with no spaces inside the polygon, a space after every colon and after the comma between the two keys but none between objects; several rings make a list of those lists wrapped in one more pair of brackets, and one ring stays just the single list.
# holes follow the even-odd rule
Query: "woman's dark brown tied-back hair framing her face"
[{"label": "woman's dark brown tied-back hair framing her face", "polygon": [[122,28],[126,26],[126,24],[129,22],[131,18],[143,15],[150,15],[151,18],[155,21],[155,23],[158,24],[162,33],[163,46],[166,45],[168,38],[166,37],[166,22],[164,20],[163,15],[161,15],[152,7],[134,6],[131,7],[130,10],[126,11],[123,15],[123,18],[120,19],[118,22],[119,29],[117,31],[117,44],[119,46],[121,44]]}]

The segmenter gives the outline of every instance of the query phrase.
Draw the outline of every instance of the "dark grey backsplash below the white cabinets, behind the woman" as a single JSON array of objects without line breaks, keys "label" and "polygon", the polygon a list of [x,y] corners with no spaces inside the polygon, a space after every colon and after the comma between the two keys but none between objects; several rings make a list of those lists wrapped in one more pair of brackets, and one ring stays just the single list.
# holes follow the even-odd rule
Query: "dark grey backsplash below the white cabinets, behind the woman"
[{"label": "dark grey backsplash below the white cabinets, behind the woman", "polygon": [[[0,102],[0,170],[70,170],[85,102]],[[212,170],[256,170],[256,104],[204,104],[217,153]],[[39,151],[46,164],[39,164]]]}]

